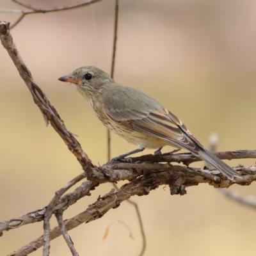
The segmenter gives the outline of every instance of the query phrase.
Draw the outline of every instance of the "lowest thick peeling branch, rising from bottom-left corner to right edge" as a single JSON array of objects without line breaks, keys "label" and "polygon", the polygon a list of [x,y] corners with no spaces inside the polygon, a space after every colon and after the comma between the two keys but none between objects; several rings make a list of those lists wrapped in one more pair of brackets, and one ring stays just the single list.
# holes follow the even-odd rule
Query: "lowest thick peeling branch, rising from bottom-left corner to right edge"
[{"label": "lowest thick peeling branch, rising from bottom-left corner to right edge", "polygon": [[[248,168],[243,166],[237,167],[237,171],[243,170],[248,172],[256,173],[256,164]],[[120,170],[119,170],[120,171]],[[122,171],[120,171],[122,172]],[[131,170],[132,172],[132,170]],[[210,174],[216,177],[216,174]],[[220,177],[218,177],[220,178]],[[221,180],[221,179],[220,179]],[[247,182],[246,182],[247,180]],[[243,182],[241,184],[248,184],[256,180],[256,174],[253,175],[244,175]],[[114,193],[112,189],[108,194],[104,195],[101,198],[98,198],[97,201],[89,205],[86,211],[81,212],[77,216],[71,218],[70,220],[64,221],[65,227],[67,230],[81,225],[82,223],[88,223],[93,220],[97,220],[106,214],[110,209],[115,209],[118,207],[124,200],[129,199],[131,196],[138,195],[148,195],[151,190],[158,188],[161,185],[170,186],[171,194],[186,194],[186,187],[196,186],[199,183],[207,182],[215,188],[228,188],[228,186],[234,184],[231,180],[221,180],[219,183],[212,182],[211,180],[202,179],[201,176],[196,175],[196,173],[188,173],[185,175],[183,172],[174,172],[166,170],[163,172],[152,172],[143,176],[134,179],[132,182],[124,184],[118,191]],[[50,239],[55,239],[61,235],[60,227],[54,227],[50,232]],[[11,253],[8,256],[24,256],[33,252],[34,250],[40,248],[44,243],[44,236],[39,237],[38,239],[32,241],[26,246],[20,248],[16,252]]]}]

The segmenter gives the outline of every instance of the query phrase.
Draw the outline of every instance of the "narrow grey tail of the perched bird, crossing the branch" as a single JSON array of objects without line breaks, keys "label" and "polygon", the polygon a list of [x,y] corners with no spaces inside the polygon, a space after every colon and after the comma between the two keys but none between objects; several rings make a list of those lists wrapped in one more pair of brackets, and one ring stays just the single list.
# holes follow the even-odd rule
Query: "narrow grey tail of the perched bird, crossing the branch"
[{"label": "narrow grey tail of the perched bird, crossing the branch", "polygon": [[220,172],[228,177],[228,179],[235,181],[234,177],[241,177],[241,175],[232,169],[228,164],[221,161],[214,154],[202,148],[199,152],[199,157],[206,161],[207,163],[212,164],[215,168],[217,168]]}]

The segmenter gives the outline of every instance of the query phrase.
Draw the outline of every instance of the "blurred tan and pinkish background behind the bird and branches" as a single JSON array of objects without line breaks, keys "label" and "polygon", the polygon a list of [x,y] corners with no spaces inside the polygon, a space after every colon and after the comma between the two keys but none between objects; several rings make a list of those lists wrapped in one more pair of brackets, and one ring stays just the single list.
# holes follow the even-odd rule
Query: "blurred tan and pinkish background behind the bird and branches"
[{"label": "blurred tan and pinkish background behind the bird and branches", "polygon": [[[52,8],[82,1],[28,1]],[[0,9],[24,9],[1,0]],[[106,128],[72,86],[58,81],[74,69],[95,65],[110,72],[114,0],[64,12],[29,15],[12,29],[20,55],[94,164],[107,160]],[[0,13],[15,22],[17,13]],[[188,126],[205,147],[218,132],[217,150],[256,147],[256,2],[249,0],[120,0],[115,81],[151,95]],[[82,170],[43,117],[6,50],[0,47],[0,220],[47,205],[54,192]],[[136,147],[112,134],[111,156]],[[166,147],[163,152],[173,150]],[[143,152],[144,153],[144,152]],[[145,154],[152,150],[145,150]],[[230,166],[255,159],[228,161]],[[204,166],[195,163],[193,166]],[[122,183],[118,184],[121,186]],[[68,219],[111,190],[102,184],[64,213]],[[232,186],[255,195],[255,184]],[[71,189],[70,191],[72,191]],[[68,191],[68,192],[70,192]],[[147,236],[145,255],[255,255],[255,211],[200,184],[188,195],[168,187],[134,196]],[[129,231],[117,220],[124,221]],[[108,237],[102,241],[111,224]],[[42,235],[43,223],[0,238],[6,255]],[[56,225],[52,218],[51,227]],[[104,218],[69,232],[80,255],[138,255],[141,236],[134,208],[124,202]],[[33,253],[42,255],[42,248]],[[51,255],[70,255],[62,237]]]}]

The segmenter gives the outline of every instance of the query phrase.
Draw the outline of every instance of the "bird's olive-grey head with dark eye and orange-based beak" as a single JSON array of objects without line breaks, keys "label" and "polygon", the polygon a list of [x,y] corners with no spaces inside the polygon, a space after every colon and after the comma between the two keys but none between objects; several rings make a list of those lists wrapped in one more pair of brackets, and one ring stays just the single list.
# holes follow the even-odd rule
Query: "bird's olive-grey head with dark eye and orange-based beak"
[{"label": "bird's olive-grey head with dark eye and orange-based beak", "polygon": [[93,66],[77,68],[68,76],[62,76],[58,80],[75,84],[77,90],[87,99],[97,97],[104,88],[114,83],[106,72]]}]

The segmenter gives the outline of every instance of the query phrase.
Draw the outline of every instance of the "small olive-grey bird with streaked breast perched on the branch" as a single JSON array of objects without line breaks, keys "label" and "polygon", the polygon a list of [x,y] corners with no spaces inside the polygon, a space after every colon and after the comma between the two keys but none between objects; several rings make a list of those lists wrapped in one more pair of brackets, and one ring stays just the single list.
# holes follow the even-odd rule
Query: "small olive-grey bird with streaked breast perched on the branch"
[{"label": "small olive-grey bird with streaked breast perched on the branch", "polygon": [[139,148],[115,159],[122,159],[145,148],[171,145],[186,148],[193,155],[212,164],[228,179],[241,177],[230,166],[206,150],[187,127],[156,100],[134,88],[115,83],[106,72],[97,67],[81,67],[70,75],[59,78],[72,83],[87,99],[96,116],[108,129]]}]

